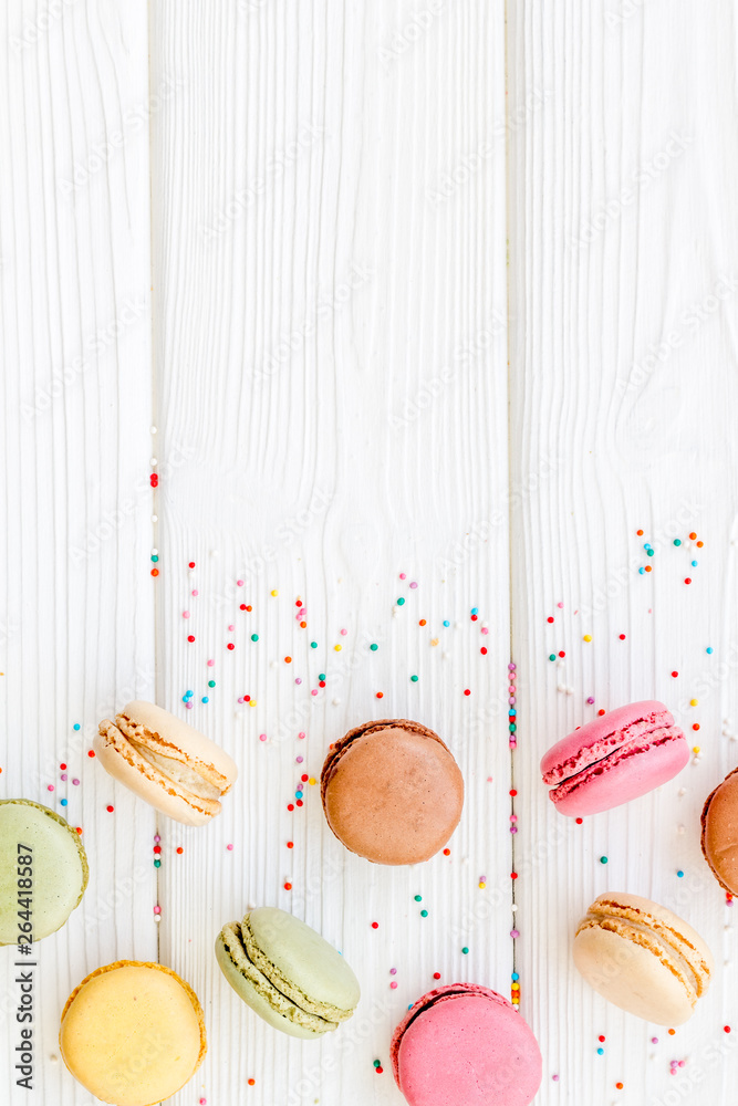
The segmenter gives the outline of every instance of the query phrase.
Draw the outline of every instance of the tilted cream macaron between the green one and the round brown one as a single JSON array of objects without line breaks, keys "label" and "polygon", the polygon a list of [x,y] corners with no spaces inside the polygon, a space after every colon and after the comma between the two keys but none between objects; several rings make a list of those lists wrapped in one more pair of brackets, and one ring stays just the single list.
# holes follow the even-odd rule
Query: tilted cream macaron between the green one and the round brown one
[{"label": "tilted cream macaron between the green one and the round brown one", "polygon": [[220,813],[238,769],[215,741],[162,707],[136,700],[94,739],[106,772],[162,814],[201,826]]}]

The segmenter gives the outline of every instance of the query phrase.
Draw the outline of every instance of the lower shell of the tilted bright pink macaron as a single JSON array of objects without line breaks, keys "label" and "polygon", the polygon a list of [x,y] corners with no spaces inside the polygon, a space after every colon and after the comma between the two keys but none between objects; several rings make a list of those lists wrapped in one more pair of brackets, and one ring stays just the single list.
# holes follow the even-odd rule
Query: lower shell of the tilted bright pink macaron
[{"label": "lower shell of the tilted bright pink macaron", "polygon": [[662,744],[628,749],[619,760],[593,764],[581,773],[581,781],[578,776],[576,786],[569,792],[550,791],[549,799],[569,817],[600,814],[668,783],[688,760],[689,747],[682,731],[676,730],[676,737]]}]

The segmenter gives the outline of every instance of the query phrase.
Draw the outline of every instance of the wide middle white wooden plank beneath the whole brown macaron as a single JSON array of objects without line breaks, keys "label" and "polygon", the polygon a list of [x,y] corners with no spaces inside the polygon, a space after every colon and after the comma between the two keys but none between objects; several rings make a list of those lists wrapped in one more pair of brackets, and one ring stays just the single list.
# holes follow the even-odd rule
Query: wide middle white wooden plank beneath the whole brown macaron
[{"label": "wide middle white wooden plank beneath the whole brown macaron", "polygon": [[[426,7],[153,7],[153,87],[180,83],[152,144],[159,701],[241,771],[212,825],[162,830],[162,959],[210,1032],[186,1102],[397,1102],[392,1030],[434,972],[509,985],[503,9]],[[347,855],[310,782],[288,811],[372,717],[457,755],[450,857]],[[357,971],[340,1033],[290,1041],[229,991],[215,938],[259,904]]]}]

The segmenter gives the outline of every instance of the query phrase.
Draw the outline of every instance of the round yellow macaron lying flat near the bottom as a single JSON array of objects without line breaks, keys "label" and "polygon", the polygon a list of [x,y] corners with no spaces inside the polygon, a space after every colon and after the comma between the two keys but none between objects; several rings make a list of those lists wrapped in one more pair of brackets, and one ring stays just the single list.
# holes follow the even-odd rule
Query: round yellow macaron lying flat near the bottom
[{"label": "round yellow macaron lying flat near the bottom", "polygon": [[59,1035],[75,1079],[104,1103],[154,1106],[195,1074],[207,1051],[202,1008],[170,968],[118,960],[72,991]]}]

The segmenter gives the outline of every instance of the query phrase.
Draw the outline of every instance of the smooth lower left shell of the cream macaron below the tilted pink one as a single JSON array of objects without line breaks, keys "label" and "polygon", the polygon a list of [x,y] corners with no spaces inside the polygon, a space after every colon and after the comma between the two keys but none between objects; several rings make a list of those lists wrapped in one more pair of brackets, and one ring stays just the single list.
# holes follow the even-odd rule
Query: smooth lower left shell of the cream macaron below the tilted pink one
[{"label": "smooth lower left shell of the cream macaron below the tilted pink one", "polygon": [[585,929],[574,939],[574,963],[609,1002],[656,1025],[683,1025],[694,1006],[683,983],[656,957],[627,938]]}]

